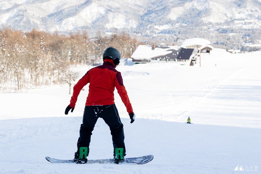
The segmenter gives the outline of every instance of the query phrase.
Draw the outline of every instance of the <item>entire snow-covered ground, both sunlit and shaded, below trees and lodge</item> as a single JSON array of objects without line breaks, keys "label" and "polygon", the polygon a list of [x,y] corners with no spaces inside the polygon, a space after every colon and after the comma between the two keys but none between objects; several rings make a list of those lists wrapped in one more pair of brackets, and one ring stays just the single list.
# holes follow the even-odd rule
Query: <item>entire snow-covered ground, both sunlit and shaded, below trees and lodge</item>
[{"label": "entire snow-covered ground, both sunlit and shaded, below trees and lodge", "polygon": [[[51,164],[73,159],[88,85],[73,113],[68,86],[0,93],[0,173],[260,173],[261,51],[203,53],[199,65],[119,66],[136,120],[115,91],[126,157],[148,164]],[[89,69],[78,67],[79,78]],[[190,117],[193,124],[185,124]],[[113,157],[108,126],[95,125],[88,159]],[[234,171],[237,165],[244,171]]]}]

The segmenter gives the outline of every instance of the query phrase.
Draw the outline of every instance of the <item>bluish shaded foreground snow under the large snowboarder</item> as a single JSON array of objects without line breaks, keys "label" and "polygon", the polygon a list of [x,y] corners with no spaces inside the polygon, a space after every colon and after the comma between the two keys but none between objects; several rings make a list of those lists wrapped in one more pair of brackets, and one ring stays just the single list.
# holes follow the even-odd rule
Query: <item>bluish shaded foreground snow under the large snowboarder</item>
[{"label": "bluish shaded foreground snow under the large snowboarder", "polygon": [[[188,125],[150,119],[137,119],[133,124],[129,119],[122,119],[126,157],[153,154],[154,159],[148,164],[86,166],[46,161],[46,156],[73,158],[81,119],[2,120],[0,173],[233,173],[237,165],[260,166],[260,139],[253,136],[259,135],[260,129]],[[111,158],[112,155],[109,128],[102,119],[98,119],[89,159]]]}]

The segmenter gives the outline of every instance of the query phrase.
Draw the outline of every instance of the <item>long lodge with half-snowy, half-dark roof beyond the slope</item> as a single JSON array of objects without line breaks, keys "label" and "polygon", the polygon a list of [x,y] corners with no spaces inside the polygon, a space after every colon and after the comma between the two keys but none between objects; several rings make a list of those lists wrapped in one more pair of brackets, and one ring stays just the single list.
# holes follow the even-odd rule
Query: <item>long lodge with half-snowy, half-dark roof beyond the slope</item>
[{"label": "long lodge with half-snowy, half-dark roof beyond the slope", "polygon": [[[149,46],[139,45],[131,55],[134,63],[164,63],[172,62],[190,65],[193,49],[179,46]],[[194,55],[195,57],[195,55]]]}]

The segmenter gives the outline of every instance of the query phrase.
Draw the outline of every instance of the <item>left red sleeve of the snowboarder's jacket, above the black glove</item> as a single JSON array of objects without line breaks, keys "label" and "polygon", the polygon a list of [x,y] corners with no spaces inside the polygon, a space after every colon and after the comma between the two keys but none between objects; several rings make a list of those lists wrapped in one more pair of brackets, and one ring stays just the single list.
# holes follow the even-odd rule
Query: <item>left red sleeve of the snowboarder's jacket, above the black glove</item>
[{"label": "left red sleeve of the snowboarder's jacket, above the black glove", "polygon": [[73,87],[73,96],[71,97],[70,104],[72,108],[75,107],[75,103],[77,102],[78,95],[81,91],[81,89],[88,84],[90,81],[89,79],[89,71],[75,84]]}]

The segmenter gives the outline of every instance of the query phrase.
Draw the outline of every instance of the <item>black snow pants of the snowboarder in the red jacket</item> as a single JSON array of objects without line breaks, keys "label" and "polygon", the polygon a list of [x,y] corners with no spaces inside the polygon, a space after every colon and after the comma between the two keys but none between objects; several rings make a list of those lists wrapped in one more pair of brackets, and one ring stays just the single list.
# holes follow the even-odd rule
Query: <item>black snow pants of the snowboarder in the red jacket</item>
[{"label": "black snow pants of the snowboarder in the red jacket", "polygon": [[92,131],[98,118],[104,119],[105,123],[110,127],[110,134],[112,135],[114,148],[113,153],[115,154],[115,148],[123,148],[123,154],[125,155],[126,150],[124,144],[123,124],[120,120],[115,104],[85,106],[83,120],[80,128],[80,137],[77,142],[77,152],[79,152],[80,147],[88,147],[89,149]]}]

